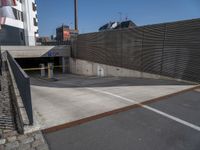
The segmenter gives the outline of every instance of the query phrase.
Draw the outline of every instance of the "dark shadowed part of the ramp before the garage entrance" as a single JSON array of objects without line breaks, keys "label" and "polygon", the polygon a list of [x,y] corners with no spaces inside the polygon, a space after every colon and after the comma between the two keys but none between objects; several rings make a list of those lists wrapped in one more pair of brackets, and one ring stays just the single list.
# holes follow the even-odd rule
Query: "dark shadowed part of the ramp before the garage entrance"
[{"label": "dark shadowed part of the ramp before the garage entrance", "polygon": [[31,85],[56,88],[79,88],[79,87],[117,87],[117,86],[167,86],[167,85],[191,85],[168,79],[146,79],[131,77],[86,77],[72,74],[57,74],[56,80],[40,78],[31,75]]}]

